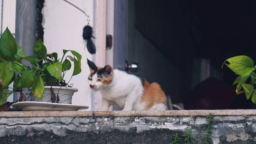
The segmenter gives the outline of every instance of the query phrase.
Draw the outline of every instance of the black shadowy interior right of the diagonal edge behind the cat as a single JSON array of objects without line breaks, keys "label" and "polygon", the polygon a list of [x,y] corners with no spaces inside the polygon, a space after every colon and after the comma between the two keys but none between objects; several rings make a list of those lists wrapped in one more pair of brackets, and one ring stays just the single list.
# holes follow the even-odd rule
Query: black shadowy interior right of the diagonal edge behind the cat
[{"label": "black shadowy interior right of the diagonal edge behind the cat", "polygon": [[[227,67],[221,69],[222,63],[232,56],[256,58],[255,0],[132,0],[128,7],[131,5],[135,13],[133,27],[181,75],[177,86],[181,92],[172,97],[174,103],[183,102],[186,109],[256,108],[244,95],[236,96],[232,87],[236,75]],[[208,79],[191,88],[195,73],[192,65],[201,58],[209,59],[210,65],[222,73],[222,79]],[[170,75],[172,78],[175,75]],[[171,95],[173,88],[168,88],[167,82],[162,85],[165,93]],[[200,102],[207,105],[207,101],[211,102],[209,107],[195,106]]]}]

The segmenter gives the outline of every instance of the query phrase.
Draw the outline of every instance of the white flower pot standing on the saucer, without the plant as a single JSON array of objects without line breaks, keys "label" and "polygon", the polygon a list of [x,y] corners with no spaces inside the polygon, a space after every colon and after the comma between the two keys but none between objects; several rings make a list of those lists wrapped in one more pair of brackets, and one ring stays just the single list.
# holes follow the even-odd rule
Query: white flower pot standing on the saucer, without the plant
[{"label": "white flower pot standing on the saucer, without the plant", "polygon": [[[35,101],[52,102],[50,88],[51,86],[45,86],[45,91],[44,91],[42,100],[35,97]],[[78,91],[76,88],[70,88],[70,87],[52,86],[52,88],[54,90],[56,97],[59,92],[59,99],[60,99],[59,103],[62,103],[62,104],[71,104],[72,96],[74,92]],[[57,101],[57,98],[56,98],[56,101]]]}]

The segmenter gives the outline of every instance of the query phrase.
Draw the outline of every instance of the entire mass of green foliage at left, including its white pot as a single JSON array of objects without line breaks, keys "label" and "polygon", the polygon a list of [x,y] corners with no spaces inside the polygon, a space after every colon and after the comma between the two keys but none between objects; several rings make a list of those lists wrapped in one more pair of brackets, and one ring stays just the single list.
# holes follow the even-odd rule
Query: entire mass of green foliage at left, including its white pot
[{"label": "entire mass of green foliage at left, including its white pot", "polygon": [[[72,55],[67,55],[68,52]],[[71,97],[77,89],[72,88],[69,82],[81,72],[81,54],[63,50],[62,58],[58,59],[57,53],[47,54],[46,46],[40,39],[34,45],[34,53],[36,55],[24,56],[24,49],[15,43],[15,38],[6,28],[0,37],[1,93],[13,82],[13,90],[9,93],[20,92],[21,101],[24,100],[22,90],[27,88],[35,101],[71,104]],[[29,61],[32,67],[22,64],[21,60]],[[71,62],[73,74],[66,82],[64,77],[71,69]]]}]

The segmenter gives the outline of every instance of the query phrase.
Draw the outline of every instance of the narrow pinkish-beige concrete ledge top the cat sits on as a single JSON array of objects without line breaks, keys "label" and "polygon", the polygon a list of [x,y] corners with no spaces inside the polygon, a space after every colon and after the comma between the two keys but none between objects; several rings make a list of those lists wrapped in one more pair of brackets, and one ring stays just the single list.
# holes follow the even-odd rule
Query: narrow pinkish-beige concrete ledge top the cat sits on
[{"label": "narrow pinkish-beige concrete ledge top the cat sits on", "polygon": [[166,111],[11,111],[0,117],[134,117],[134,116],[256,116],[256,109],[166,110]]}]

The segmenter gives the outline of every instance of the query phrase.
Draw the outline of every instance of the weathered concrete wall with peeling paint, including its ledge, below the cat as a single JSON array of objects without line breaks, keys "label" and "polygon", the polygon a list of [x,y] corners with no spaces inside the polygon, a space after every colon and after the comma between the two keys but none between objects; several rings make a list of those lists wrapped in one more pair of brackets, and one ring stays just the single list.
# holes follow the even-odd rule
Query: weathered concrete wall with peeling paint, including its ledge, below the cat
[{"label": "weathered concrete wall with peeling paint, including its ledge, below the cat", "polygon": [[209,113],[213,144],[256,143],[256,110],[182,110],[0,112],[0,144],[169,144],[186,128],[200,144]]}]

